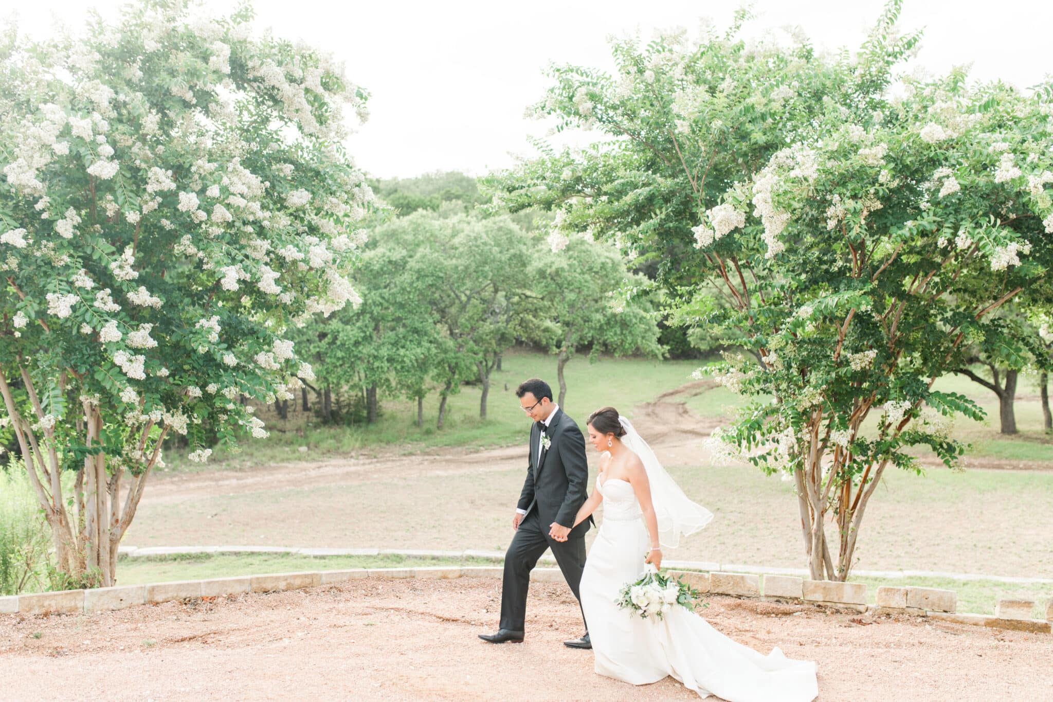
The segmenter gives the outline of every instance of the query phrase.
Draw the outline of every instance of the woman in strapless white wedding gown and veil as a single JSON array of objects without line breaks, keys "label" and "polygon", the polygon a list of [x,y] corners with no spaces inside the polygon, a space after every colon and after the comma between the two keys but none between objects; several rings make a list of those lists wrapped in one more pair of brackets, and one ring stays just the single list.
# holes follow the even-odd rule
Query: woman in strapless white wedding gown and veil
[{"label": "woman in strapless white wedding gown and veil", "polygon": [[[596,489],[579,524],[604,502],[603,524],[585,559],[581,608],[596,673],[634,685],[673,676],[700,696],[729,702],[810,702],[818,695],[815,663],[767,657],[732,641],[682,606],[664,618],[641,619],[615,603],[644,563],[661,565],[661,546],[675,547],[713,515],[695,504],[662,468],[651,447],[614,407],[589,417],[589,439],[602,452]],[[641,555],[647,557],[641,562]]]}]

